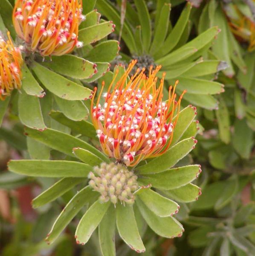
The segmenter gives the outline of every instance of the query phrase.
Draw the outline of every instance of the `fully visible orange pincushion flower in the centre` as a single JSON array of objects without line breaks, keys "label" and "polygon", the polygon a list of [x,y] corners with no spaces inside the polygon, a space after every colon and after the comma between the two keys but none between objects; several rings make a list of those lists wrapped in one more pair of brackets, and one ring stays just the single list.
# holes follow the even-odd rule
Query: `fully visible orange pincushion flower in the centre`
[{"label": "fully visible orange pincushion flower in the centre", "polygon": [[[134,166],[140,160],[156,157],[168,149],[178,119],[172,122],[173,116],[177,112],[178,117],[185,93],[178,101],[175,100],[177,81],[174,87],[169,88],[168,102],[162,101],[165,74],[159,87],[156,86],[156,74],[161,66],[155,70],[151,66],[148,77],[145,76],[145,68],[138,69],[126,84],[135,64],[133,60],[113,87],[114,77],[107,93],[103,94],[105,100],[102,106],[99,100],[104,83],[96,106],[93,107],[96,88],[91,103],[93,125],[104,153],[126,166]],[[113,91],[110,92],[112,87]]]}]

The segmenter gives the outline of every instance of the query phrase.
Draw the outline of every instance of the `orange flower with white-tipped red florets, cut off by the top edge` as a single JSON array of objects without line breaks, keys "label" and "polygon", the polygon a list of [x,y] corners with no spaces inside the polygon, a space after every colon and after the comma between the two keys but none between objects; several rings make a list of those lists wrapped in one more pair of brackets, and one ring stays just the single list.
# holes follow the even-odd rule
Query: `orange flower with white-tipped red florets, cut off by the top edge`
[{"label": "orange flower with white-tipped red florets, cut off by the top edge", "polygon": [[12,19],[19,37],[43,56],[82,46],[78,26],[85,17],[80,0],[17,0]]}]

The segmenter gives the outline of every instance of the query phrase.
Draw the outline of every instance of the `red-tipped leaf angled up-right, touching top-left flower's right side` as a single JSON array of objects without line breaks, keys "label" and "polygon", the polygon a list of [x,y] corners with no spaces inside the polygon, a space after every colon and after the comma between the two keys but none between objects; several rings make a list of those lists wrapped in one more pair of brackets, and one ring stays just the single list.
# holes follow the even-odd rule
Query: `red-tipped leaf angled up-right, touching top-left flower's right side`
[{"label": "red-tipped leaf angled up-right, touching top-left flower's right side", "polygon": [[115,25],[112,21],[96,24],[79,30],[79,41],[84,45],[95,43],[114,31]]}]

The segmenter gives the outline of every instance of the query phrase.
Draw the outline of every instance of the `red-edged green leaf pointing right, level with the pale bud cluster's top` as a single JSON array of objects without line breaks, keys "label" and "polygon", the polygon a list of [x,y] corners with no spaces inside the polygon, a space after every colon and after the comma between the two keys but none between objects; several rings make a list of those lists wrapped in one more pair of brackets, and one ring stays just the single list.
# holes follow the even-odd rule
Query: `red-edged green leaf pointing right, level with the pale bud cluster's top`
[{"label": "red-edged green leaf pointing right, level with the pale bud cluster's top", "polygon": [[155,174],[144,175],[140,179],[157,189],[176,189],[194,180],[201,172],[199,165],[177,167]]}]

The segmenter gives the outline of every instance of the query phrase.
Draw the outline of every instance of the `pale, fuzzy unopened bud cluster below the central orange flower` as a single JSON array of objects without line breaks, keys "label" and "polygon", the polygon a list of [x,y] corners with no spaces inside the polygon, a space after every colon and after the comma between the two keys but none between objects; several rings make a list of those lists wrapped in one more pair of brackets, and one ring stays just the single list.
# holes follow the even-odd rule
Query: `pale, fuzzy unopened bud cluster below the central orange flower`
[{"label": "pale, fuzzy unopened bud cluster below the central orange flower", "polygon": [[123,204],[133,204],[135,196],[133,192],[138,189],[137,176],[121,164],[101,163],[101,166],[94,167],[94,172],[90,172],[90,186],[98,191],[102,203],[111,201],[117,204],[118,200]]}]

